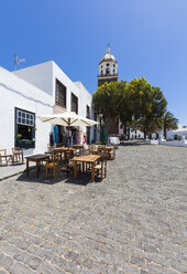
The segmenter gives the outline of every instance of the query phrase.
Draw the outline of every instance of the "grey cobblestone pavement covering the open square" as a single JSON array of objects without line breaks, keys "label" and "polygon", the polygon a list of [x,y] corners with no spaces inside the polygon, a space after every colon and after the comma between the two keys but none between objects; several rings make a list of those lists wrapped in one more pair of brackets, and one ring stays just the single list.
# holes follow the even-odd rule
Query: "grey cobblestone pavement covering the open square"
[{"label": "grey cobblestone pavement covering the open square", "polygon": [[187,149],[122,146],[89,178],[0,181],[0,274],[187,273]]}]

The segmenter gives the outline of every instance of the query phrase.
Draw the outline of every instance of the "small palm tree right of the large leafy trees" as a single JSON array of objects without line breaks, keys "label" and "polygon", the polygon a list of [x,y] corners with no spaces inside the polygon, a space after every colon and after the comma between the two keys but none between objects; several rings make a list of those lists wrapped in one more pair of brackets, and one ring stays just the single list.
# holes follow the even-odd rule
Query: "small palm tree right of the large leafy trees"
[{"label": "small palm tree right of the large leafy trees", "polygon": [[167,138],[167,130],[177,129],[178,128],[178,119],[174,116],[173,113],[166,112],[163,117],[163,129],[164,129],[164,138]]}]

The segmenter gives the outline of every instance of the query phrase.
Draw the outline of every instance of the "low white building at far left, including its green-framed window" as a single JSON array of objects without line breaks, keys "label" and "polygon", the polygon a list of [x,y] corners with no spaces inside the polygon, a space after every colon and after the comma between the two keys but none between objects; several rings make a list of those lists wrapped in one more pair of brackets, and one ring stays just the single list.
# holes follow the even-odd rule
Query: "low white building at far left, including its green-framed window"
[{"label": "low white building at far left, including its green-framed window", "polygon": [[0,67],[0,148],[28,148],[24,155],[44,152],[52,130],[37,115],[52,114],[50,95]]}]

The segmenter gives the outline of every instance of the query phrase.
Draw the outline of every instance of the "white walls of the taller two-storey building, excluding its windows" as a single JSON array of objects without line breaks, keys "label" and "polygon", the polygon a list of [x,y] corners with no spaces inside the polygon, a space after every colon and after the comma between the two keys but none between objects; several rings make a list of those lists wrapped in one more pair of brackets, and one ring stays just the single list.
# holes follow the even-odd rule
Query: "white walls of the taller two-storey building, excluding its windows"
[{"label": "white walls of the taller two-storey building, excluding its windows", "polygon": [[[72,93],[78,98],[78,114],[80,116],[87,116],[87,106],[90,109],[90,118],[94,118],[91,113],[91,102],[92,96],[86,89],[86,87],[81,84],[81,82],[73,82],[53,61],[42,63],[38,65],[30,66],[23,70],[19,70],[13,72],[19,77],[24,78],[25,81],[32,83],[38,88],[43,89],[46,94],[52,96],[53,101],[53,112],[61,113],[64,110],[72,110]],[[66,87],[66,108],[57,106],[55,104],[56,96],[56,80],[59,81]],[[87,128],[82,127],[81,130],[81,139],[82,134],[87,134]],[[94,127],[90,128],[90,137],[88,143],[94,141]],[[95,138],[95,140],[97,140]]]}]

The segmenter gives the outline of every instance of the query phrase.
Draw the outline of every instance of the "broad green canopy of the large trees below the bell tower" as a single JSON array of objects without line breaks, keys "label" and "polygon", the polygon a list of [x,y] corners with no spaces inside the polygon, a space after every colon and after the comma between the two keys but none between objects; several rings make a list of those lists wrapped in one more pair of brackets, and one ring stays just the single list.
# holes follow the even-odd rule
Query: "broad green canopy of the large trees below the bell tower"
[{"label": "broad green canopy of the large trees below the bell tower", "polygon": [[102,114],[105,123],[119,117],[123,126],[133,126],[146,135],[163,128],[166,98],[157,86],[144,77],[129,83],[106,83],[92,94],[95,110]]}]

